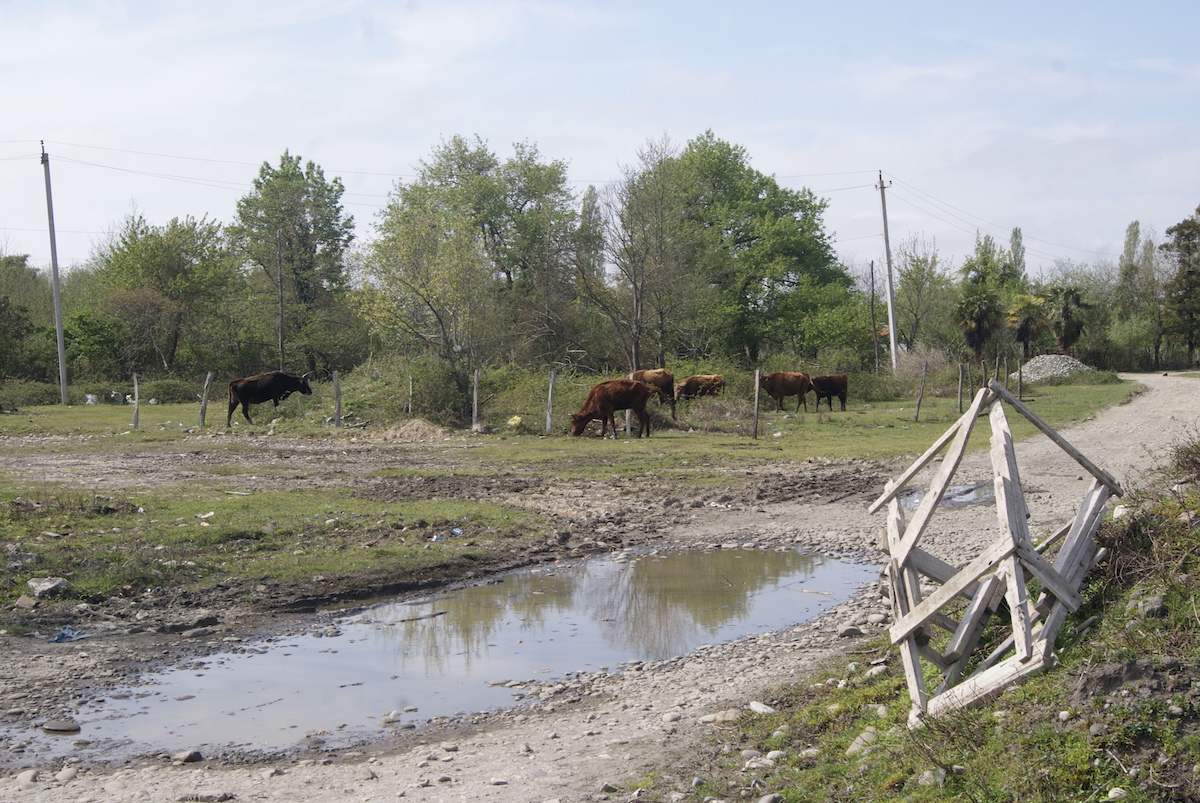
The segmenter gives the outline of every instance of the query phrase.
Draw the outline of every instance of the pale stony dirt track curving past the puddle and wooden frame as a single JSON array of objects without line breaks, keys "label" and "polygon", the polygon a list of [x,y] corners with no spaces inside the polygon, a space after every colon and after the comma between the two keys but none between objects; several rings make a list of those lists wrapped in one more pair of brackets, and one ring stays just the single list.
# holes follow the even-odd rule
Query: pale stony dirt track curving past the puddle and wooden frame
[{"label": "pale stony dirt track curving past the puddle and wooden frame", "polygon": [[[1200,424],[1200,405],[1195,403],[1200,383],[1195,379],[1136,379],[1147,385],[1147,392],[1063,432],[1127,487],[1163,449],[1183,435],[1194,435]],[[277,459],[308,457],[293,451]],[[1036,531],[1048,531],[1074,514],[1087,481],[1068,456],[1039,436],[1019,445],[1018,460]],[[880,557],[875,533],[882,516],[869,516],[866,501],[884,477],[902,468],[835,463],[764,472],[754,486],[754,498],[680,508],[672,516],[679,523],[668,528],[606,519],[599,504],[581,510],[582,499],[589,497],[575,493],[572,484],[499,478],[488,491],[498,499],[520,498],[539,509],[571,514],[583,522],[581,528],[618,531],[618,540],[679,545],[799,543],[812,550],[875,559]],[[61,463],[53,471],[60,469]],[[175,469],[186,471],[186,456]],[[986,455],[967,456],[958,478],[962,484],[989,483]],[[137,472],[113,481],[136,483]],[[650,492],[632,487],[625,498],[650,502]],[[630,532],[637,527],[643,532]],[[994,528],[991,505],[946,510],[935,517],[923,545],[950,563],[962,563],[990,540]],[[713,749],[710,737],[719,724],[706,721],[706,715],[744,708],[751,701],[769,705],[763,695],[769,695],[773,687],[802,679],[827,661],[847,663],[851,658],[846,652],[860,649],[862,642],[839,639],[839,625],[852,622],[871,635],[883,627],[868,622],[872,613],[886,613],[886,609],[877,595],[864,592],[856,603],[818,622],[776,633],[772,639],[713,647],[643,671],[582,679],[520,714],[460,723],[449,730],[409,737],[407,743],[397,739],[382,744],[365,755],[326,757],[313,753],[241,767],[208,762],[172,766],[169,760],[158,760],[115,771],[82,768],[74,778],[61,781],[54,778],[62,769],[59,763],[36,767],[38,778],[25,784],[16,779],[0,781],[0,789],[7,783],[14,799],[38,802],[233,799],[224,796],[323,803],[398,796],[500,803],[628,799],[636,779],[652,769],[685,786],[692,775],[702,773],[706,751]],[[13,639],[0,643],[17,654]],[[10,665],[2,672],[0,693],[10,697],[8,707],[17,705],[12,697],[18,690],[30,684],[53,683],[61,679],[62,672],[97,672],[107,666],[96,659],[64,663],[61,651],[53,665],[30,655],[24,646],[20,654],[29,657],[28,664]],[[427,743],[419,743],[422,738]],[[606,791],[606,784],[613,789]],[[737,795],[731,792],[731,797]]]}]

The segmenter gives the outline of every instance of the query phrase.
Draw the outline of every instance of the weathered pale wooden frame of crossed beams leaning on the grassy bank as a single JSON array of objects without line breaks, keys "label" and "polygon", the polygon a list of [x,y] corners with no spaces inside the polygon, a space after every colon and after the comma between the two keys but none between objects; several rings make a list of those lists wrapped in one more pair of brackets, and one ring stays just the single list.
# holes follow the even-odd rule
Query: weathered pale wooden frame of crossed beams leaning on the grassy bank
[{"label": "weathered pale wooden frame of crossed beams leaning on the grassy bank", "polygon": [[[1006,406],[1028,419],[1093,478],[1074,521],[1037,546],[1030,533]],[[984,408],[988,408],[991,426],[990,460],[1000,531],[974,559],[955,569],[922,550],[919,543],[962,461],[971,431]],[[946,454],[929,490],[912,520],[906,521],[900,493],[943,450]],[[911,724],[918,724],[925,715],[982,703],[1055,660],[1055,637],[1067,613],[1082,604],[1079,591],[1097,561],[1094,535],[1108,501],[1123,493],[1110,474],[996,380],[980,388],[967,412],[900,477],[887,484],[869,510],[875,513],[887,505],[890,557],[886,573],[895,613],[889,635],[900,651],[905,669],[912,700]],[[1054,545],[1057,552],[1051,561],[1044,553]],[[924,595],[922,579],[937,588]],[[1031,581],[1040,588],[1036,601],[1030,599]],[[992,628],[998,635],[991,639],[998,643],[985,643],[985,625],[1001,611],[1002,603],[1007,607],[1007,621]],[[935,639],[935,628],[949,633],[948,639]],[[942,646],[935,647],[935,643]],[[932,694],[926,685],[926,665],[941,673]]]}]

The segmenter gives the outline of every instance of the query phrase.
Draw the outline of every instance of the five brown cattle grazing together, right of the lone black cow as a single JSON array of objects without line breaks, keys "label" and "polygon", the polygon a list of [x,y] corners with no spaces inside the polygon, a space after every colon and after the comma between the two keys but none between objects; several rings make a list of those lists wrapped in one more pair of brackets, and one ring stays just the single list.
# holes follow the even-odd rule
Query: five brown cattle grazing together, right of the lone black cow
[{"label": "five brown cattle grazing together, right of the lone black cow", "polygon": [[[719,373],[701,373],[676,383],[674,374],[666,368],[635,371],[631,379],[610,379],[601,382],[588,391],[583,408],[571,415],[571,435],[583,435],[590,421],[600,421],[600,436],[604,437],[612,427],[617,433],[617,421],[613,414],[628,409],[636,417],[640,425],[637,437],[650,435],[650,417],[646,413],[646,402],[656,395],[660,405],[671,405],[671,418],[676,417],[676,402],[700,396],[715,396],[725,389],[725,377]],[[775,401],[775,409],[784,409],[784,400],[798,396],[796,411],[804,405],[809,412],[809,390],[816,395],[817,409],[821,400],[829,403],[833,412],[833,397],[846,409],[846,374],[833,373],[823,377],[810,377],[803,371],[776,371],[760,377],[758,386]]]}]

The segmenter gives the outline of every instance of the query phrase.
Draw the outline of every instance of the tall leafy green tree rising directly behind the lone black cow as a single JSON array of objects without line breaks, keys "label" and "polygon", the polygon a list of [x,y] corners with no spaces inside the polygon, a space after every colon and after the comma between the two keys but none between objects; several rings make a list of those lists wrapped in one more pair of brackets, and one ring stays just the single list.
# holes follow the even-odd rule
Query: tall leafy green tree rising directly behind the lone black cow
[{"label": "tall leafy green tree rising directly behind the lone black cow", "polygon": [[322,337],[346,323],[354,218],[342,209],[343,192],[341,179],[328,181],[320,167],[311,161],[301,167],[300,157],[284,150],[277,168],[263,162],[253,190],[238,202],[229,233],[274,286],[281,370],[289,331],[312,371]]}]

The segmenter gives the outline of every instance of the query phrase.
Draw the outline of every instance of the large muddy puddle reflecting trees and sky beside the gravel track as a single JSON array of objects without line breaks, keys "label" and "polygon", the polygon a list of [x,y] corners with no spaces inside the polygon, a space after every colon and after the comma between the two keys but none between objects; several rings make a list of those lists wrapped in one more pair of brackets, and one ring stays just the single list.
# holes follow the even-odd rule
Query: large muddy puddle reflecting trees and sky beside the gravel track
[{"label": "large muddy puddle reflecting trees and sky beside the gravel track", "polygon": [[[31,754],[347,747],[397,726],[520,705],[577,672],[619,671],[775,630],[848,599],[876,568],[800,551],[721,550],[541,567],[446,595],[326,616],[76,712],[70,738],[5,733]],[[526,687],[524,689],[520,687]],[[409,708],[409,712],[404,712]],[[396,724],[380,718],[401,712]],[[83,744],[80,741],[90,742]]]}]

